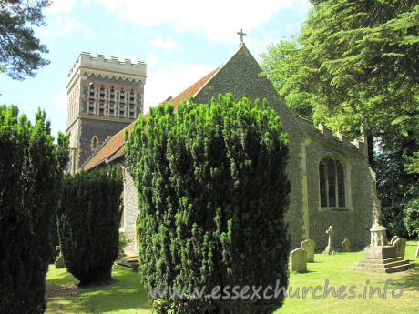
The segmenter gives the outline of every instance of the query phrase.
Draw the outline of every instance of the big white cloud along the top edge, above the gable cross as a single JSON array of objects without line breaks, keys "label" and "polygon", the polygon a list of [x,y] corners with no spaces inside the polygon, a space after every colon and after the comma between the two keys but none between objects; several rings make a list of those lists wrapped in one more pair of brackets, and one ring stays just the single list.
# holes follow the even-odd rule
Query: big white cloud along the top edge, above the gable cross
[{"label": "big white cloud along the top edge, above the gable cross", "polygon": [[283,8],[307,7],[307,0],[259,0],[246,4],[242,0],[97,1],[124,21],[143,26],[171,25],[178,31],[202,33],[223,42],[237,42],[240,28],[250,33]]}]

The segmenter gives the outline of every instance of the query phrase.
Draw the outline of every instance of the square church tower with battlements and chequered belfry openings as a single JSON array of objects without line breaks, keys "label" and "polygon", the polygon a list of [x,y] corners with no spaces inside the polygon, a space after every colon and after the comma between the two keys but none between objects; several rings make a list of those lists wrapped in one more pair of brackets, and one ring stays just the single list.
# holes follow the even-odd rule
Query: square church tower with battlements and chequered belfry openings
[{"label": "square church tower with battlements and chequered belfry openings", "polygon": [[136,120],[143,111],[147,66],[129,59],[81,53],[67,76],[67,171],[83,167],[98,147]]}]

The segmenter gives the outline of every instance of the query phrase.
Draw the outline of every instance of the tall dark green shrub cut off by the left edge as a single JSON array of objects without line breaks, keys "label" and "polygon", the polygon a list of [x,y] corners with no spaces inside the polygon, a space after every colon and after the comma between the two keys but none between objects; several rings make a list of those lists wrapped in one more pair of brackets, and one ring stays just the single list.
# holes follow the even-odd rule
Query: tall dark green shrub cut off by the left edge
[{"label": "tall dark green shrub cut off by the left edge", "polygon": [[67,161],[67,137],[51,137],[45,112],[35,125],[0,106],[0,313],[43,313],[52,256],[50,226]]}]

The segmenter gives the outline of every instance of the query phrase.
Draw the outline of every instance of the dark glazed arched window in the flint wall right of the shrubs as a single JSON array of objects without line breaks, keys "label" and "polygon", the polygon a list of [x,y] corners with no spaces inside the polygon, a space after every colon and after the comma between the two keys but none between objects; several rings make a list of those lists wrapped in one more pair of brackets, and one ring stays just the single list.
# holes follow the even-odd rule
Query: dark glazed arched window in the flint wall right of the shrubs
[{"label": "dark glazed arched window in the flint wall right of the shrubs", "polygon": [[345,168],[341,161],[325,157],[319,164],[321,208],[348,209]]}]

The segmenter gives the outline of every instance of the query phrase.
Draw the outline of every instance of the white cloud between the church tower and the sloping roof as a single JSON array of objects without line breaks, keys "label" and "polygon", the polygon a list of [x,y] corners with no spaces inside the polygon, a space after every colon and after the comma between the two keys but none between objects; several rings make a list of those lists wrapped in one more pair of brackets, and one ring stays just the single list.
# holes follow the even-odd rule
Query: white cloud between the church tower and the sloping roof
[{"label": "white cloud between the church tower and the sloping roof", "polygon": [[202,76],[213,70],[206,65],[182,65],[172,62],[169,66],[160,67],[155,72],[149,72],[147,83],[144,86],[145,107],[144,113],[150,106],[157,106],[169,96],[177,96],[183,90],[194,84]]}]

